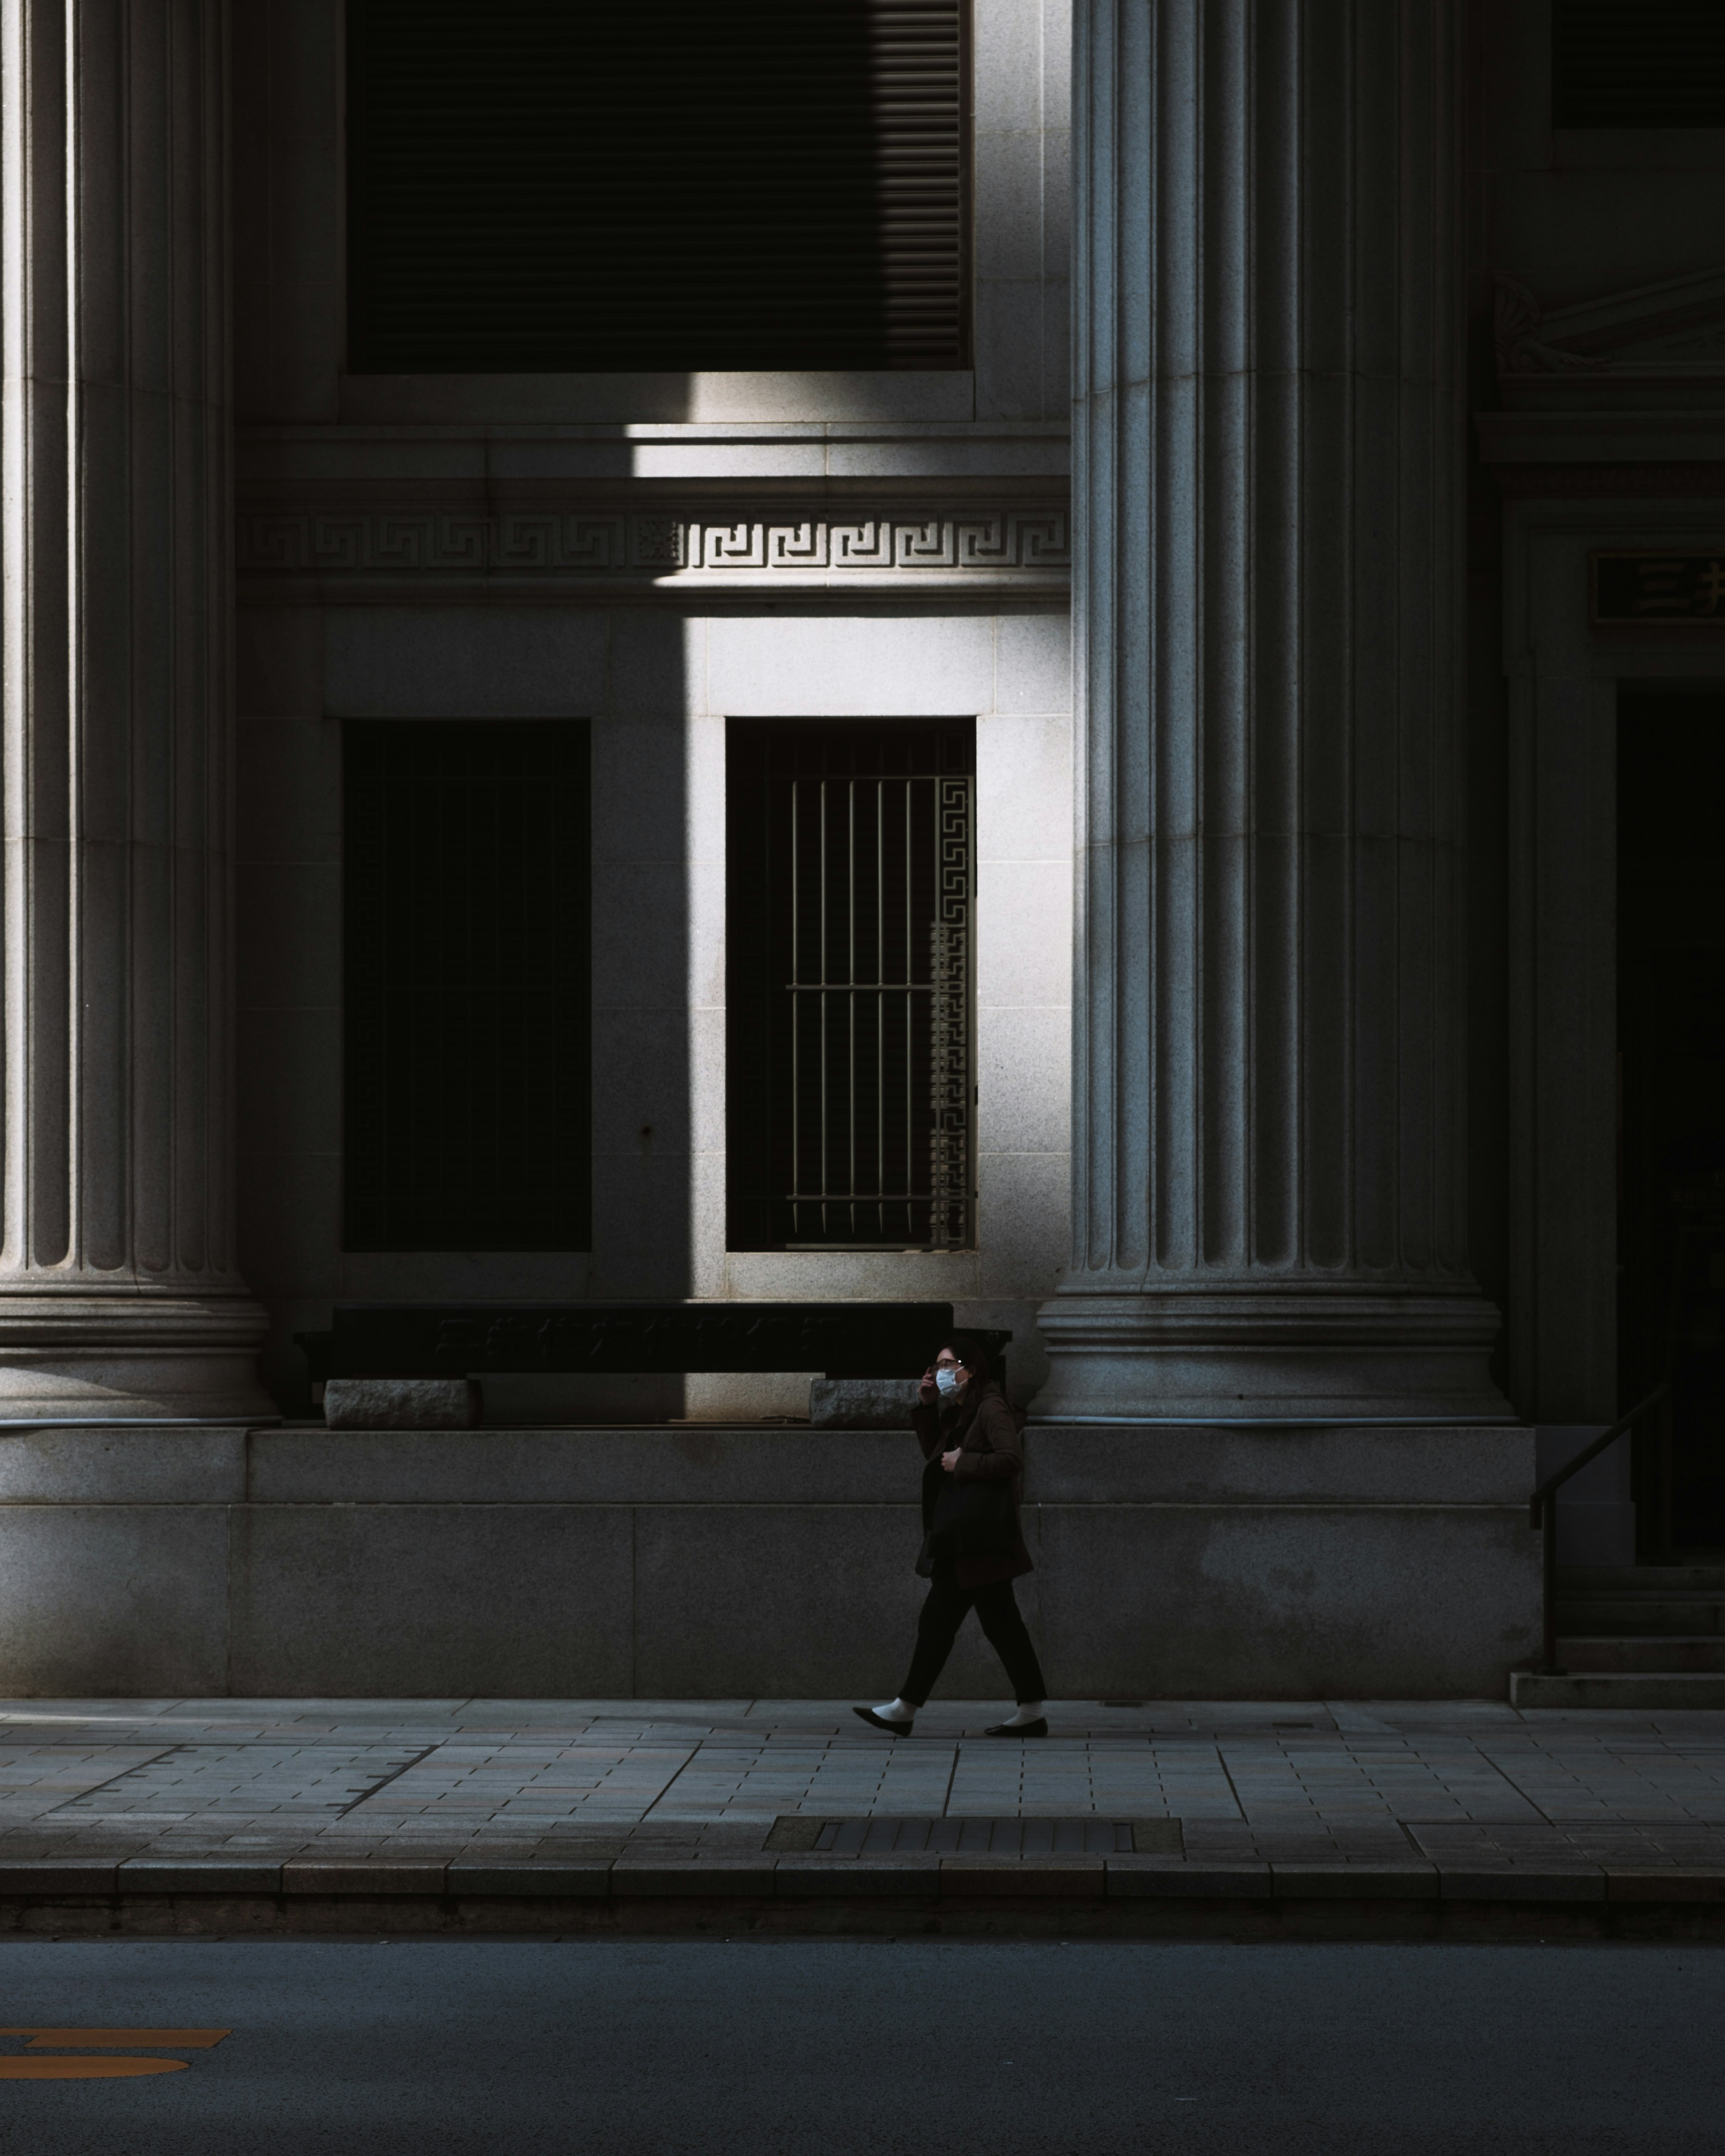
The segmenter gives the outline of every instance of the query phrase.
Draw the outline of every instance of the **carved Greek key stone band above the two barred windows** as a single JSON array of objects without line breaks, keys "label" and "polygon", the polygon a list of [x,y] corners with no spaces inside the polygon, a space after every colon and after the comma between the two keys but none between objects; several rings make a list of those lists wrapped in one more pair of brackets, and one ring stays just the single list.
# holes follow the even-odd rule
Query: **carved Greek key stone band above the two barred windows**
[{"label": "carved Greek key stone band above the two barred windows", "polygon": [[334,602],[369,602],[412,582],[416,597],[740,586],[1020,589],[1065,593],[1072,569],[1063,502],[903,500],[664,505],[239,507],[239,576],[248,595],[315,584]]}]

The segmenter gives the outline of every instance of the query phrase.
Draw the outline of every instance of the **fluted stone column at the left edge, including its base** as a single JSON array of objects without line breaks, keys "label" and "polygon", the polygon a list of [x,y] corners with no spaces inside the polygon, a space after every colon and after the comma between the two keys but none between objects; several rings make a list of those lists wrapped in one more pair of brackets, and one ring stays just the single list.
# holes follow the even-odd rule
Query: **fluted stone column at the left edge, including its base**
[{"label": "fluted stone column at the left edge, including its base", "polygon": [[0,0],[0,1416],[250,1414],[233,1270],[226,11]]}]

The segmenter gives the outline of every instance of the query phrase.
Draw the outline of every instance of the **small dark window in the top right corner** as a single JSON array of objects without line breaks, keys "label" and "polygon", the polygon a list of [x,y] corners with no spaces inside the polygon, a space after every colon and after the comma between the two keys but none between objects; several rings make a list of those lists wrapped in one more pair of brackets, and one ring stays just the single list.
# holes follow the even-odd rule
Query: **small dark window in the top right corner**
[{"label": "small dark window in the top right corner", "polygon": [[1555,127],[1725,127],[1721,0],[1552,0]]}]

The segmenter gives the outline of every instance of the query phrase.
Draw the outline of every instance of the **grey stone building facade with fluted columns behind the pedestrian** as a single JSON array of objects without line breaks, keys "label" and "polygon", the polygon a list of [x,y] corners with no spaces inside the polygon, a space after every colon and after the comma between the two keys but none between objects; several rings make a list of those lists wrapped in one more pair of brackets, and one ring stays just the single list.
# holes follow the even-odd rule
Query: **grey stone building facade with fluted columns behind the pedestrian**
[{"label": "grey stone building facade with fluted columns behind the pedestrian", "polygon": [[[397,306],[470,274],[412,188],[494,201],[414,136],[461,11],[6,0],[9,1688],[893,1682],[914,1462],[817,1373],[334,1429],[339,1302],[951,1302],[1059,1692],[1524,1664],[1535,1460],[1725,1285],[1725,918],[1645,839],[1725,709],[1712,78],[1591,0],[1074,9],[834,11],[878,364],[804,362],[815,248],[804,356],[703,371],[526,364],[507,263]],[[951,231],[888,112],[949,47]],[[1725,1539],[1706,1356],[1570,1554]]]}]

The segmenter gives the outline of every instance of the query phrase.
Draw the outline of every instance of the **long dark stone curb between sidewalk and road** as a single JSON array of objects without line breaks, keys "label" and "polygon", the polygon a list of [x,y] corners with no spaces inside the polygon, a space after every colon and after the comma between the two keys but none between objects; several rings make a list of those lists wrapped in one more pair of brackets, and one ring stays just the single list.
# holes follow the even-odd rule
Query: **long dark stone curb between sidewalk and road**
[{"label": "long dark stone curb between sidewalk and road", "polygon": [[373,1895],[647,1899],[878,1895],[947,1899],[1205,1899],[1205,1902],[1725,1902],[1725,1869],[1421,1863],[1238,1863],[1104,1856],[727,1858],[686,1863],[248,1863],[129,1856],[0,1863],[0,1897],[37,1895]]}]

